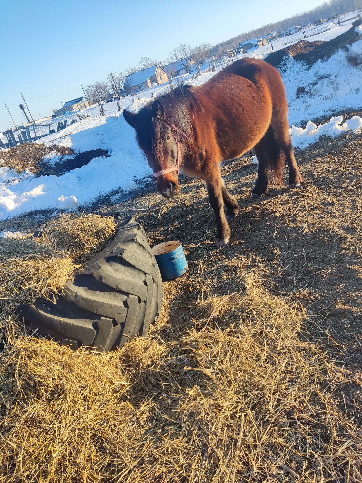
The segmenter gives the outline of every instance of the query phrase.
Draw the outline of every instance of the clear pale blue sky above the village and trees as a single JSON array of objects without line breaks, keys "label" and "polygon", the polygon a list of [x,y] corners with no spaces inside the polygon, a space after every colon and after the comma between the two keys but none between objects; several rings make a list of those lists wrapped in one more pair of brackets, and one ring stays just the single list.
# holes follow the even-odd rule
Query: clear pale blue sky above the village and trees
[{"label": "clear pale blue sky above the village and trees", "polygon": [[21,92],[34,119],[46,116],[142,55],[166,60],[180,43],[214,45],[323,1],[0,0],[0,131],[4,102],[24,122]]}]

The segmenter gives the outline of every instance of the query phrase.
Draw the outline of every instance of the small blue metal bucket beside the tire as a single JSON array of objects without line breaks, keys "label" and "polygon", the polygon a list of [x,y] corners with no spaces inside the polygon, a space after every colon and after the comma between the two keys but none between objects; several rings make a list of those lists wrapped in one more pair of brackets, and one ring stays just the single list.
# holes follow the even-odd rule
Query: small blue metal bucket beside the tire
[{"label": "small blue metal bucket beside the tire", "polygon": [[153,247],[152,252],[160,269],[162,280],[174,280],[189,268],[181,241],[159,243]]}]

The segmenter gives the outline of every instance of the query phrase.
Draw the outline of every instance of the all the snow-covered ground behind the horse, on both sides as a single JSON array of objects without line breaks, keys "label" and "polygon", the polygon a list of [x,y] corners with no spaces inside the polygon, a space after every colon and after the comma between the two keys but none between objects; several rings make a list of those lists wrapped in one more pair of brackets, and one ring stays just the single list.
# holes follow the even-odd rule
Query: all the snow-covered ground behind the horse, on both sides
[{"label": "all the snow-covered ground behind the horse, on both sides", "polygon": [[[334,26],[307,40],[329,40],[348,28],[349,23],[342,27]],[[362,35],[362,31],[358,30],[357,33]],[[319,39],[319,36],[322,38]],[[295,42],[301,40],[299,34],[291,37],[295,38]],[[284,48],[282,43],[284,39],[273,42],[274,51]],[[247,56],[265,58],[270,51],[271,47],[266,46]],[[293,124],[290,133],[294,146],[306,147],[318,141],[323,134],[335,136],[347,130],[357,132],[362,129],[362,119],[359,117],[343,125],[342,116],[332,117],[330,123],[319,127],[311,122],[306,124],[308,119],[338,114],[345,109],[362,108],[362,65],[352,65],[348,62],[349,56],[362,56],[361,37],[348,46],[348,51],[341,49],[328,60],[317,61],[311,68],[292,58],[284,58],[281,74],[290,104],[290,121]],[[238,56],[240,57],[245,55]],[[218,66],[217,70],[221,70],[223,65]],[[204,69],[208,70],[209,65],[205,65]],[[203,84],[213,75],[215,72],[204,72],[193,81],[193,85]],[[191,77],[185,76],[184,80],[191,81]],[[298,87],[304,88],[303,94],[297,95]],[[122,99],[121,106],[137,112],[149,101],[152,93],[157,96],[158,92],[165,92],[167,88],[168,84],[147,89],[137,96],[127,96]],[[69,124],[74,114],[60,118],[67,118],[69,126],[39,142],[71,147],[76,153],[102,148],[109,152],[110,157],[95,158],[82,168],[70,170],[61,176],[37,178],[29,172],[17,174],[1,167],[0,151],[0,219],[29,211],[77,209],[78,206],[93,204],[109,193],[115,193],[113,199],[116,201],[152,176],[151,169],[139,151],[134,131],[120,115],[122,113],[118,112],[117,103],[106,104],[104,109],[105,116],[99,115],[98,107],[82,110],[82,114],[89,114],[91,117],[71,126]],[[58,120],[59,118],[56,123]],[[305,128],[295,126],[302,123]],[[57,153],[52,154],[54,156],[50,161],[57,161]]]}]

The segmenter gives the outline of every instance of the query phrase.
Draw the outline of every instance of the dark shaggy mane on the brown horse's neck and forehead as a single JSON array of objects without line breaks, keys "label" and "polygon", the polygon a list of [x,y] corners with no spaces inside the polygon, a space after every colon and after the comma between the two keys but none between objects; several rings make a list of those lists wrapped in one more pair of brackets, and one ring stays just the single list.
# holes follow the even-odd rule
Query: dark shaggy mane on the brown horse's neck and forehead
[{"label": "dark shaggy mane on the brown horse's neck and forehead", "polygon": [[[200,109],[200,103],[190,85],[179,85],[171,92],[167,92],[156,98],[163,106],[164,121],[172,128],[174,135],[179,141],[193,137],[191,106]],[[160,128],[162,120],[153,115],[152,104],[154,99],[144,106],[138,113],[139,128],[137,139],[143,150],[153,152],[155,155],[161,147]],[[184,146],[186,148],[186,144]]]}]

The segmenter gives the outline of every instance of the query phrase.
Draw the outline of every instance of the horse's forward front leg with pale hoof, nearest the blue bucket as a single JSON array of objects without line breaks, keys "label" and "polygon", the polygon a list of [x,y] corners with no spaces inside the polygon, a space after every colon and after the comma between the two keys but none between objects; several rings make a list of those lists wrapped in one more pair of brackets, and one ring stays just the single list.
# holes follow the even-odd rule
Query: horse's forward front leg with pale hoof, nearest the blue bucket
[{"label": "horse's forward front leg with pale hoof, nearest the blue bucket", "polygon": [[216,217],[216,246],[221,248],[229,243],[230,227],[223,210],[223,180],[219,169],[215,168],[205,181]]}]

